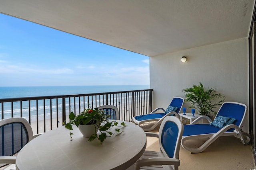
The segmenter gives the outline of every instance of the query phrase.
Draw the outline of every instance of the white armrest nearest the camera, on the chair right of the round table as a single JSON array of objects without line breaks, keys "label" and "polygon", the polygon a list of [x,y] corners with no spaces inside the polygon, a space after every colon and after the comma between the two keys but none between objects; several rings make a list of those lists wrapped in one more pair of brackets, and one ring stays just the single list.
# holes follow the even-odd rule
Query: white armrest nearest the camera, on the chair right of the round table
[{"label": "white armrest nearest the camera, on the chair right of the round table", "polygon": [[135,163],[135,170],[139,170],[142,166],[150,166],[150,165],[174,165],[179,166],[180,160],[176,158],[146,158],[138,160]]}]

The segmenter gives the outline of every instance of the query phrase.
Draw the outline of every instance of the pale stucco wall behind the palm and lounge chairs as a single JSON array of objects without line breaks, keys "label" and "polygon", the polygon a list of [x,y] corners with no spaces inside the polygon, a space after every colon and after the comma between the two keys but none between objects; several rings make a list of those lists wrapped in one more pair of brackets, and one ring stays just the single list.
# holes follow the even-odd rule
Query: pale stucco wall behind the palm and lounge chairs
[{"label": "pale stucco wall behind the palm and lounge chairs", "polygon": [[[185,63],[181,62],[182,56],[187,57]],[[217,92],[224,94],[226,102],[240,102],[248,107],[248,74],[246,37],[150,57],[153,108],[166,108],[173,97],[184,97],[182,89],[199,82],[216,88]],[[189,106],[189,103],[184,104],[184,107]],[[248,117],[244,131],[249,129]]]}]

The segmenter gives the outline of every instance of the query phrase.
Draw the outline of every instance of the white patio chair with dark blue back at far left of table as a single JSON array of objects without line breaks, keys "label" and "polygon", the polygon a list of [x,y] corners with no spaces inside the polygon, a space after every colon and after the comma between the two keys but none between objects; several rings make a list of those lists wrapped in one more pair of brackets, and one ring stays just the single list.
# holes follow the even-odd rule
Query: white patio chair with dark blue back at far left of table
[{"label": "white patio chair with dark blue back at far left of table", "polygon": [[30,124],[22,117],[0,120],[0,167],[15,164],[13,155],[38,135],[33,135]]}]

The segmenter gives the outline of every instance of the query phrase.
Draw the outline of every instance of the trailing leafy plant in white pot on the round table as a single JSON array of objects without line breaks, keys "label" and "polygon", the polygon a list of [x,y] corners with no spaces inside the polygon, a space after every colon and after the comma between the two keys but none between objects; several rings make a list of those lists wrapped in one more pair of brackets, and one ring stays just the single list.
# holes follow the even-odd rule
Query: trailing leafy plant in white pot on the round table
[{"label": "trailing leafy plant in white pot on the round table", "polygon": [[[63,124],[66,129],[70,130],[71,141],[73,135],[71,132],[71,130],[73,130],[72,126],[76,125],[84,137],[89,137],[88,141],[93,141],[98,138],[100,143],[103,143],[107,137],[110,137],[111,135],[118,135],[123,132],[120,132],[120,129],[116,128],[115,133],[112,133],[110,129],[113,126],[118,126],[118,122],[109,122],[108,117],[109,115],[106,115],[103,110],[99,110],[98,108],[88,108],[84,109],[84,111],[77,116],[75,116],[73,111],[71,111],[69,114],[70,122],[66,123],[66,121],[64,121]],[[121,126],[124,127],[126,124],[122,122]],[[100,135],[97,134],[98,131],[100,131]]]}]

